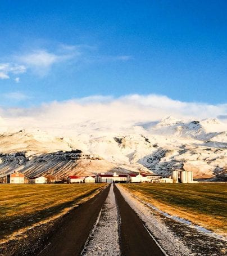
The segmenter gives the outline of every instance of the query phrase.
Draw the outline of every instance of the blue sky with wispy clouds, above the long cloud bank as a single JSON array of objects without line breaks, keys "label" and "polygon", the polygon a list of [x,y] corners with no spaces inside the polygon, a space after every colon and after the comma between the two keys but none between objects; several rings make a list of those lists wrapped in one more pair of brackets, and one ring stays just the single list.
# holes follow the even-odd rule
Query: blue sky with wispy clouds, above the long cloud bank
[{"label": "blue sky with wispy clouds, above the long cloud bank", "polygon": [[1,1],[0,106],[91,95],[225,104],[226,1]]}]

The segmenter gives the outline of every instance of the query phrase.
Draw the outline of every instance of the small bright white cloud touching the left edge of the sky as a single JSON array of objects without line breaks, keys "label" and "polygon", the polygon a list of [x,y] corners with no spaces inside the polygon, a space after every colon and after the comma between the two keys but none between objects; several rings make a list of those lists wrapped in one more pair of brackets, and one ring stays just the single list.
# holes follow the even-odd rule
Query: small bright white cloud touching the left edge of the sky
[{"label": "small bright white cloud touching the left edge of the sky", "polygon": [[22,74],[26,72],[24,65],[18,65],[12,62],[0,63],[0,79],[9,79],[10,74]]}]

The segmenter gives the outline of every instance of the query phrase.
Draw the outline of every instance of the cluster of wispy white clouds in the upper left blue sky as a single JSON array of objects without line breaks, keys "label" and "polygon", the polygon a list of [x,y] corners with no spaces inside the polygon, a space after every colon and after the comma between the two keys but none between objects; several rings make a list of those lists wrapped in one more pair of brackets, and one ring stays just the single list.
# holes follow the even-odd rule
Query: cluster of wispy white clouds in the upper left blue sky
[{"label": "cluster of wispy white clouds in the upper left blue sky", "polygon": [[[102,62],[126,62],[132,60],[133,57],[130,55],[102,55],[97,46],[88,44],[58,43],[17,52],[16,55],[8,56],[7,59],[11,62],[0,63],[0,79],[10,79],[11,75],[22,74],[26,71],[45,77],[56,65],[77,63],[81,66]],[[13,80],[18,83],[20,77],[17,76]]]}]

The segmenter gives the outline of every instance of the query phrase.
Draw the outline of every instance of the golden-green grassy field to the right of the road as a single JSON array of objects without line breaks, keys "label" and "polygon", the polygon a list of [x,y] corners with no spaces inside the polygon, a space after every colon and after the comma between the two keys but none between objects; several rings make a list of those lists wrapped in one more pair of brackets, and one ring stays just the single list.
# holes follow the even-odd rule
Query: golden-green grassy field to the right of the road
[{"label": "golden-green grassy field to the right of the road", "polygon": [[133,194],[171,215],[226,233],[226,184],[124,184]]}]

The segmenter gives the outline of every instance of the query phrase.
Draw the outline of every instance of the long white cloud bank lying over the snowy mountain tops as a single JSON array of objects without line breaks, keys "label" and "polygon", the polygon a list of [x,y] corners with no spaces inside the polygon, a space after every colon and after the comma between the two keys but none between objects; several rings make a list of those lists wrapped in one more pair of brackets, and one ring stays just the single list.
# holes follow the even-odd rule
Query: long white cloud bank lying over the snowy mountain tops
[{"label": "long white cloud bank lying over the snowy mountain tops", "polygon": [[4,109],[2,115],[11,120],[12,126],[69,129],[80,133],[96,132],[97,129],[118,132],[167,115],[184,119],[227,115],[227,104],[182,102],[160,95],[90,96],[54,101],[40,107]]}]

